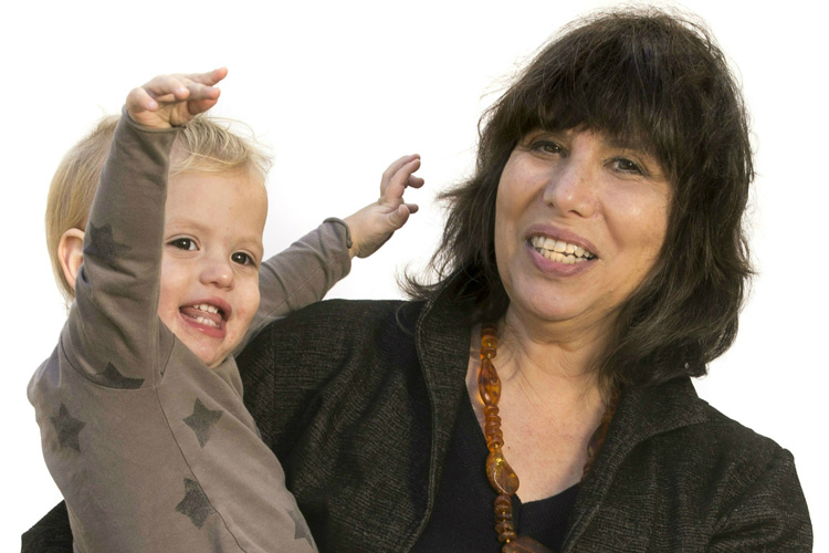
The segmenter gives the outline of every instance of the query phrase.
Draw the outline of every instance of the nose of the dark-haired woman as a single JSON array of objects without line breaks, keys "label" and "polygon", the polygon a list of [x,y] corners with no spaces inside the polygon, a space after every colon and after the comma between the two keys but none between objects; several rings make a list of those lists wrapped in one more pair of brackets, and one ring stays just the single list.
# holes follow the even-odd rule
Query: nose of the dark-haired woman
[{"label": "nose of the dark-haired woman", "polygon": [[550,168],[543,198],[562,215],[590,217],[596,210],[596,169],[588,159],[570,156]]}]

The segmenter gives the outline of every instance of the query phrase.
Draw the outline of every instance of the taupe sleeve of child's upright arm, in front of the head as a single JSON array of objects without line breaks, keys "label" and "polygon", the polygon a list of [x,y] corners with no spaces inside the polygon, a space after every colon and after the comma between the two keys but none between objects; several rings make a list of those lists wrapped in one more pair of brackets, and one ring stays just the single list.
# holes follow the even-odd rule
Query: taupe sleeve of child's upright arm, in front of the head
[{"label": "taupe sleeve of child's upright arm, in front of the head", "polygon": [[61,345],[76,371],[105,387],[158,384],[172,347],[157,305],[176,134],[144,129],[124,114],[95,192]]}]

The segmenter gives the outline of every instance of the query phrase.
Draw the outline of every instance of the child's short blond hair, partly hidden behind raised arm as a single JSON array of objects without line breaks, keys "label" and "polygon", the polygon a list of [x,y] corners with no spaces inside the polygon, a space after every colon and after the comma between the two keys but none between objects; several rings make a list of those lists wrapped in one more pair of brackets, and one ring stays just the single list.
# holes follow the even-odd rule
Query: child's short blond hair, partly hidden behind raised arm
[{"label": "child's short blond hair, partly hidden behind raised arm", "polygon": [[[71,302],[75,292],[63,274],[57,247],[70,229],[86,230],[92,200],[101,170],[109,153],[118,116],[103,117],[95,128],[78,140],[61,160],[52,177],[46,199],[46,248],[57,286]],[[231,131],[237,122],[198,116],[176,137],[170,159],[170,176],[189,171],[249,173],[263,185],[271,157],[256,144],[249,131]]]}]

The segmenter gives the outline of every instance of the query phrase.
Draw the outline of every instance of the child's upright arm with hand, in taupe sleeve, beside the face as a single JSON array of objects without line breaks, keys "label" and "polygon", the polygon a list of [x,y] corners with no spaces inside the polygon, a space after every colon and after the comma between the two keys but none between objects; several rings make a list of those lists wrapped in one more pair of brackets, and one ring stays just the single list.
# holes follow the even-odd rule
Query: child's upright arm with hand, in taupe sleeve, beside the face
[{"label": "child's upright arm with hand, in taupe sleeve, beside the face", "polygon": [[126,97],[128,117],[101,173],[75,284],[77,310],[67,325],[73,347],[66,355],[98,384],[117,386],[102,364],[146,384],[164,369],[156,328],[171,127],[216,105],[213,84],[224,75],[225,69],[160,75]]}]

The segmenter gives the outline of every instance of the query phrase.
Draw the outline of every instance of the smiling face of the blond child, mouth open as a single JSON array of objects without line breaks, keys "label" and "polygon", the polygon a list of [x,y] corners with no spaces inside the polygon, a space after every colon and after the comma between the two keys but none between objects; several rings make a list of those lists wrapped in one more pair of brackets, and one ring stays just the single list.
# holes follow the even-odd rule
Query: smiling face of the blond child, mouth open
[{"label": "smiling face of the blond child, mouth open", "polygon": [[214,368],[239,345],[259,307],[264,186],[241,173],[170,178],[158,316]]}]

